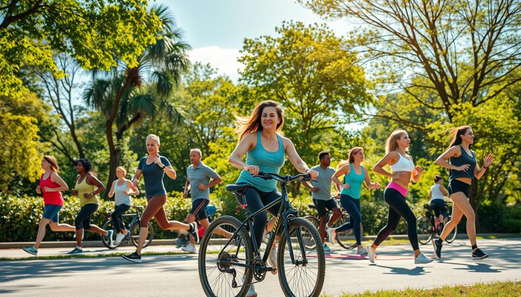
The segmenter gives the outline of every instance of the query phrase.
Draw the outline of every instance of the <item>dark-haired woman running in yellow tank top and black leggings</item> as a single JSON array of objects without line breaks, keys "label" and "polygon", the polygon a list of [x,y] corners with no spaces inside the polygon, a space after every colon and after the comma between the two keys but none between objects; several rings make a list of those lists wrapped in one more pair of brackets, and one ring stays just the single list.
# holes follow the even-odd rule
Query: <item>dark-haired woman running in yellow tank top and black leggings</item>
[{"label": "dark-haired woman running in yellow tank top and black leggings", "polygon": [[105,186],[97,179],[92,172],[92,164],[88,159],[80,159],[76,163],[76,186],[72,191],[72,195],[80,198],[80,212],[76,216],[74,224],[76,225],[76,248],[68,252],[68,254],[82,253],[83,231],[103,234],[108,237],[108,245],[112,244],[113,230],[103,230],[102,228],[91,225],[91,217],[100,206],[100,198],[98,195],[105,190]]}]

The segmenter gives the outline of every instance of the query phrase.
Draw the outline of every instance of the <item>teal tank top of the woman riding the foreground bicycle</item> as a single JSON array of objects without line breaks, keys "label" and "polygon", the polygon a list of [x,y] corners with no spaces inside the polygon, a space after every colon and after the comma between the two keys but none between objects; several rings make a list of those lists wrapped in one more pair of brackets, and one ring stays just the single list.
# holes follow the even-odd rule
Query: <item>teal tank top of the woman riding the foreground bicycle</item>
[{"label": "teal tank top of the woman riding the foreground bicycle", "polygon": [[[284,145],[282,139],[279,139],[279,149],[276,152],[269,152],[264,149],[261,142],[261,132],[257,132],[257,145],[249,152],[246,152],[246,164],[257,165],[262,172],[279,174],[280,169],[284,166],[286,161],[286,154],[284,153]],[[277,190],[277,180],[264,180],[259,177],[253,177],[249,172],[242,170],[237,183],[250,184],[258,190],[263,192],[272,192]]]}]

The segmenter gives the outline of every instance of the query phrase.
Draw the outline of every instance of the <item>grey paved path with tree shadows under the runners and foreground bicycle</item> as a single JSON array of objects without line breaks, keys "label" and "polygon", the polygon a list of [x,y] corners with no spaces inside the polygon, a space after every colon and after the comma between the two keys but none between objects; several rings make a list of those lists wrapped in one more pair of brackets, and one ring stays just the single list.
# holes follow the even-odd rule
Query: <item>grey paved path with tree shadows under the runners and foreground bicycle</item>
[{"label": "grey paved path with tree shadows under the runners and foreground bicycle", "polygon": [[[521,280],[521,239],[480,240],[478,243],[491,254],[488,259],[473,261],[469,242],[456,240],[444,246],[443,260],[422,266],[414,265],[410,246],[379,248],[376,264],[356,256],[352,250],[335,248],[327,257],[323,292],[340,295],[366,290]],[[163,249],[172,250],[171,247]],[[420,249],[428,256],[433,255],[430,245]],[[100,248],[88,250],[104,252]],[[42,251],[47,252],[51,250]],[[0,250],[0,256],[6,253]],[[24,256],[20,251],[9,253]],[[282,296],[278,278],[270,274],[256,289],[259,296]],[[203,296],[197,257],[188,254],[144,256],[141,264],[119,257],[0,261],[2,296],[128,296],[129,291],[135,296]]]}]

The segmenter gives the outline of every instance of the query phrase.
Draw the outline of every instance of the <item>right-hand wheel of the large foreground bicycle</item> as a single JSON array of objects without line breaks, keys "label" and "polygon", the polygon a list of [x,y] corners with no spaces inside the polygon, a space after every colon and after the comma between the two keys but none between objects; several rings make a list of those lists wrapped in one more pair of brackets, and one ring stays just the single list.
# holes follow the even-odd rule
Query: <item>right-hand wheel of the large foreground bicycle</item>
[{"label": "right-hand wheel of the large foreground bicycle", "polygon": [[[326,274],[326,257],[320,235],[304,218],[296,217],[288,222],[290,238],[282,232],[277,255],[280,287],[287,297],[319,296]],[[310,246],[314,248],[306,248]]]}]

